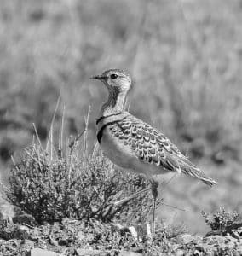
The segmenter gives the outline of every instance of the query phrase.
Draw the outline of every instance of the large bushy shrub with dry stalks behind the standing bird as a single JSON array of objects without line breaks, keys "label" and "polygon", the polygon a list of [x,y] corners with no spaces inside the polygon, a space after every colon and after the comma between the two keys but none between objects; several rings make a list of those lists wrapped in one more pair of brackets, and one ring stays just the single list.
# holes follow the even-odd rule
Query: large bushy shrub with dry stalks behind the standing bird
[{"label": "large bushy shrub with dry stalks behind the standing bird", "polygon": [[[145,221],[152,205],[149,191],[116,207],[112,203],[149,183],[115,170],[100,150],[88,155],[83,149],[81,154],[81,139],[71,139],[66,150],[55,149],[53,143],[50,150],[44,149],[33,142],[11,170],[9,189],[4,189],[7,200],[32,214],[38,223],[63,218],[115,219],[126,224]],[[83,140],[86,148],[86,136]]]}]

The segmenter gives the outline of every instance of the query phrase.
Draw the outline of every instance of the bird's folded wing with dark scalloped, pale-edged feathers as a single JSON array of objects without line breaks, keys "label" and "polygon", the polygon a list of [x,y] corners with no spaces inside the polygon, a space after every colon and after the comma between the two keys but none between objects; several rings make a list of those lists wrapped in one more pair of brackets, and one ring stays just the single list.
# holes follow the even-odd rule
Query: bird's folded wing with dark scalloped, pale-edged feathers
[{"label": "bird's folded wing with dark scalloped, pale-edged feathers", "polygon": [[197,177],[208,185],[215,184],[212,179],[205,177],[204,172],[194,166],[164,134],[141,119],[128,114],[115,125],[110,125],[109,129],[124,145],[132,148],[139,160],[161,166],[169,172],[183,172]]}]

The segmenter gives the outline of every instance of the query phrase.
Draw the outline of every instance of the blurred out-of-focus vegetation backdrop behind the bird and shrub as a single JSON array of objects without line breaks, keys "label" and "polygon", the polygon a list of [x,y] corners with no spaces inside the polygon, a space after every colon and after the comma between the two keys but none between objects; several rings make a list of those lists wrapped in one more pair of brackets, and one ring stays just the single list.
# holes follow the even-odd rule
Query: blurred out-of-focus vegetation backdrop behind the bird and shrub
[{"label": "blurred out-of-focus vegetation backdrop behind the bird and shrub", "polygon": [[[124,68],[130,112],[171,138],[219,185],[176,177],[160,196],[166,221],[205,231],[199,212],[242,212],[241,0],[2,0],[0,171],[32,141],[46,141],[60,94],[66,137],[84,129],[89,148],[106,90],[89,77]],[[55,124],[58,131],[58,118]],[[161,182],[169,177],[160,177]]]}]

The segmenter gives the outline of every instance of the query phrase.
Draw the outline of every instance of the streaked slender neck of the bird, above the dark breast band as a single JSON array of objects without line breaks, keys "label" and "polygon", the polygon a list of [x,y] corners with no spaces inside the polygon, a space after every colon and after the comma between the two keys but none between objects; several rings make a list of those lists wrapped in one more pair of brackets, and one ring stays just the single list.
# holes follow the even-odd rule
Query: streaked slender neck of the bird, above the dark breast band
[{"label": "streaked slender neck of the bird, above the dark breast band", "polygon": [[107,102],[101,107],[101,116],[107,116],[112,113],[120,113],[124,111],[124,103],[127,92],[117,89],[109,90]]}]

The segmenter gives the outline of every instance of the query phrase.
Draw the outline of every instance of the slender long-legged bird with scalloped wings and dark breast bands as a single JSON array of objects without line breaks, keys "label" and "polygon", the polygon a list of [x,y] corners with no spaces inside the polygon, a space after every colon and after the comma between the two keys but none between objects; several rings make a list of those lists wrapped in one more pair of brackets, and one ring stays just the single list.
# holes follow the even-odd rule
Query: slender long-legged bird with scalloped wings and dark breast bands
[{"label": "slender long-legged bird with scalloped wings and dark breast bands", "polygon": [[101,106],[96,120],[97,140],[112,163],[150,181],[154,232],[158,197],[158,181],[154,176],[167,172],[183,173],[209,186],[215,185],[216,181],[206,177],[161,131],[125,111],[125,100],[132,85],[129,73],[122,69],[109,69],[91,79],[100,80],[108,91],[107,102]]}]

